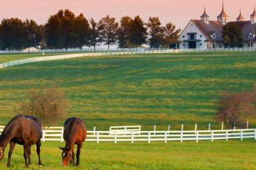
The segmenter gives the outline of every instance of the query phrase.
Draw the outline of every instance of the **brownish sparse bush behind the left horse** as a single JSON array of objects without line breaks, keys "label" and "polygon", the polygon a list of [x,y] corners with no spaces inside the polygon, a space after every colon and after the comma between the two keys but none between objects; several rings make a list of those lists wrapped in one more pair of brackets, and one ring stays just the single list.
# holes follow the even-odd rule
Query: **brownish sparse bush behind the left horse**
[{"label": "brownish sparse bush behind the left horse", "polygon": [[39,117],[44,128],[46,125],[53,126],[59,119],[64,118],[69,107],[68,97],[56,86],[33,88],[27,97],[28,101],[24,101],[17,112]]}]

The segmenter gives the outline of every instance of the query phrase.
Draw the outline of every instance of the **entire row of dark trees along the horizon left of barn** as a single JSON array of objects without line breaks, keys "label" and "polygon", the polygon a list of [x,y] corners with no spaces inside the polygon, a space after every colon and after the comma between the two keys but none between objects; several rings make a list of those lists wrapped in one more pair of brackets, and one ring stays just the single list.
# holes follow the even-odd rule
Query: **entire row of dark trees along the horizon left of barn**
[{"label": "entire row of dark trees along the horizon left of barn", "polygon": [[145,23],[138,16],[123,16],[120,22],[109,15],[96,22],[83,14],[59,10],[44,25],[34,20],[3,19],[0,24],[0,49],[20,50],[40,48],[82,48],[104,43],[118,44],[119,48],[138,48],[148,44],[150,48],[169,48],[179,39],[180,29],[167,23],[164,27],[158,17],[150,17]]}]

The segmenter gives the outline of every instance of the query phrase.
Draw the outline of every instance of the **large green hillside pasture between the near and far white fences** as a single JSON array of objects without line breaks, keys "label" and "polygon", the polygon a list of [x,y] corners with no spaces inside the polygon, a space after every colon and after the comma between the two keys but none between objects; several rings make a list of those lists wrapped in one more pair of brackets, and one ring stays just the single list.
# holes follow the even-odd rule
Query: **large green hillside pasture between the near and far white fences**
[{"label": "large green hillside pasture between the near and far white fences", "polygon": [[[23,54],[11,55],[23,58]],[[6,59],[4,59],[6,58]],[[0,63],[9,55],[1,55]],[[13,58],[9,59],[13,60]],[[0,69],[0,125],[32,87],[56,82],[71,100],[68,116],[84,119],[88,130],[142,125],[142,130],[220,129],[214,120],[221,92],[251,90],[255,52],[199,52],[64,59]],[[256,128],[256,118],[249,120]],[[63,122],[59,122],[63,125]]]}]

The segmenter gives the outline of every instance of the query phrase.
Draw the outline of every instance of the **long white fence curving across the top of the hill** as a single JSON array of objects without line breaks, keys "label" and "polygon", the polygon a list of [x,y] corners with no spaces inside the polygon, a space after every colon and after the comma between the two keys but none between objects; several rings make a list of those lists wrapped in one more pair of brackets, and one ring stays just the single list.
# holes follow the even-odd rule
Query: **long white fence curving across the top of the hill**
[{"label": "long white fence curving across the top of the hill", "polygon": [[0,69],[24,63],[39,62],[39,61],[52,61],[57,59],[68,59],[77,57],[92,57],[92,56],[117,56],[117,55],[132,55],[132,54],[160,54],[160,53],[184,53],[184,52],[238,52],[238,51],[255,51],[256,48],[216,48],[216,49],[167,49],[167,50],[142,50],[142,51],[131,51],[131,52],[104,52],[104,53],[84,53],[84,54],[67,54],[60,56],[48,56],[48,57],[35,57],[27,59],[19,59],[16,61],[10,61],[0,63]]}]

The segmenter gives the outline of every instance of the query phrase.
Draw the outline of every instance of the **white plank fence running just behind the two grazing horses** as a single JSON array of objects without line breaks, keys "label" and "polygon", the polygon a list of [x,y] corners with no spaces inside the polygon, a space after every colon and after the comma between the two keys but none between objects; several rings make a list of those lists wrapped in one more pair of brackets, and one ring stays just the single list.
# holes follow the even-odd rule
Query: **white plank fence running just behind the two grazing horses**
[{"label": "white plank fence running just behind the two grazing horses", "polygon": [[[61,127],[60,127],[61,128]],[[0,129],[2,132],[3,129]],[[42,141],[63,142],[62,130],[43,130]],[[164,142],[169,141],[196,141],[253,138],[256,140],[256,129],[236,130],[181,130],[181,131],[87,131],[88,142]]]}]

